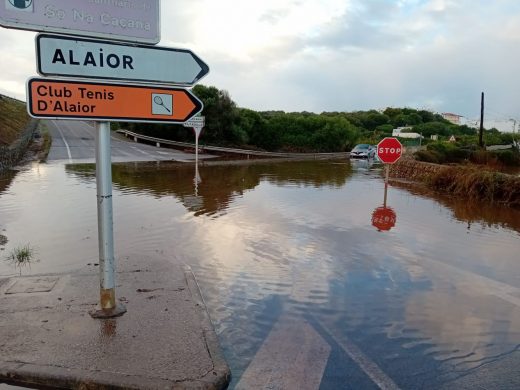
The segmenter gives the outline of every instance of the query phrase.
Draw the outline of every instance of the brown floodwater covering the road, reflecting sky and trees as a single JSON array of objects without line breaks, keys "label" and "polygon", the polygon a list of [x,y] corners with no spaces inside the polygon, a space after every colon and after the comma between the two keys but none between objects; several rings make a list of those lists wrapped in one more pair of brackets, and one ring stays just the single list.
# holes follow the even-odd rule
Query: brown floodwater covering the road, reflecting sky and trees
[{"label": "brown floodwater covering the road, reflecting sky and trees", "polygon": [[[192,267],[231,388],[520,388],[520,212],[393,183],[379,215],[380,170],[116,164],[116,257]],[[94,175],[0,176],[0,258],[36,253],[0,275],[97,262]]]}]

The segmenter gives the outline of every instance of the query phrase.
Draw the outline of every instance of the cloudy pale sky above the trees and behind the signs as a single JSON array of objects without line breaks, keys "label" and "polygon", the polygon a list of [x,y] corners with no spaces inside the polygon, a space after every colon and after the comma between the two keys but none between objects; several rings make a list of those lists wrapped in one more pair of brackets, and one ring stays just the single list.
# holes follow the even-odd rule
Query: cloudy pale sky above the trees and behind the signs
[{"label": "cloudy pale sky above the trees and behind the signs", "polygon": [[[34,36],[0,28],[0,93],[25,100]],[[518,0],[162,0],[159,45],[194,51],[201,83],[239,107],[411,107],[475,125],[484,92],[486,127],[520,126]]]}]

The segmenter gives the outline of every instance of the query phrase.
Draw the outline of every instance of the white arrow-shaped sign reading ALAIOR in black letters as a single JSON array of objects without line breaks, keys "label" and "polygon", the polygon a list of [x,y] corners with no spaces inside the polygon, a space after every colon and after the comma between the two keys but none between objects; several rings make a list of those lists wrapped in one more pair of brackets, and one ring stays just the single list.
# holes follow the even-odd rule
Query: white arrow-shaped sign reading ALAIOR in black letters
[{"label": "white arrow-shaped sign reading ALAIOR in black letters", "polygon": [[193,52],[49,34],[36,37],[38,73],[191,86],[209,72]]}]

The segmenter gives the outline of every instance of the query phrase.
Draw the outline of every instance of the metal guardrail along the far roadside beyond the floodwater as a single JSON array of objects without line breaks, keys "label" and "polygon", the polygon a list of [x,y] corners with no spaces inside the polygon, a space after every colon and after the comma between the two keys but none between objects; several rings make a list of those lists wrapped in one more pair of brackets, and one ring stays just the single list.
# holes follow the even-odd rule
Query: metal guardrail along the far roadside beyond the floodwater
[{"label": "metal guardrail along the far roadside beyond the floodwater", "polygon": [[[195,149],[195,144],[188,142],[177,142],[170,141],[162,138],[149,137],[147,135],[134,133],[128,130],[117,130],[117,133],[123,134],[125,137],[133,138],[134,142],[139,140],[152,142],[157,147],[161,145],[169,145],[176,148],[190,148]],[[337,152],[337,153],[280,153],[280,152],[264,152],[260,150],[249,150],[249,149],[237,149],[237,148],[224,148],[220,146],[200,146],[199,151],[213,152],[216,154],[237,154],[242,156],[257,156],[265,158],[294,158],[294,159],[310,159],[310,160],[327,160],[327,159],[339,159],[339,158],[350,158],[349,152]]]}]

